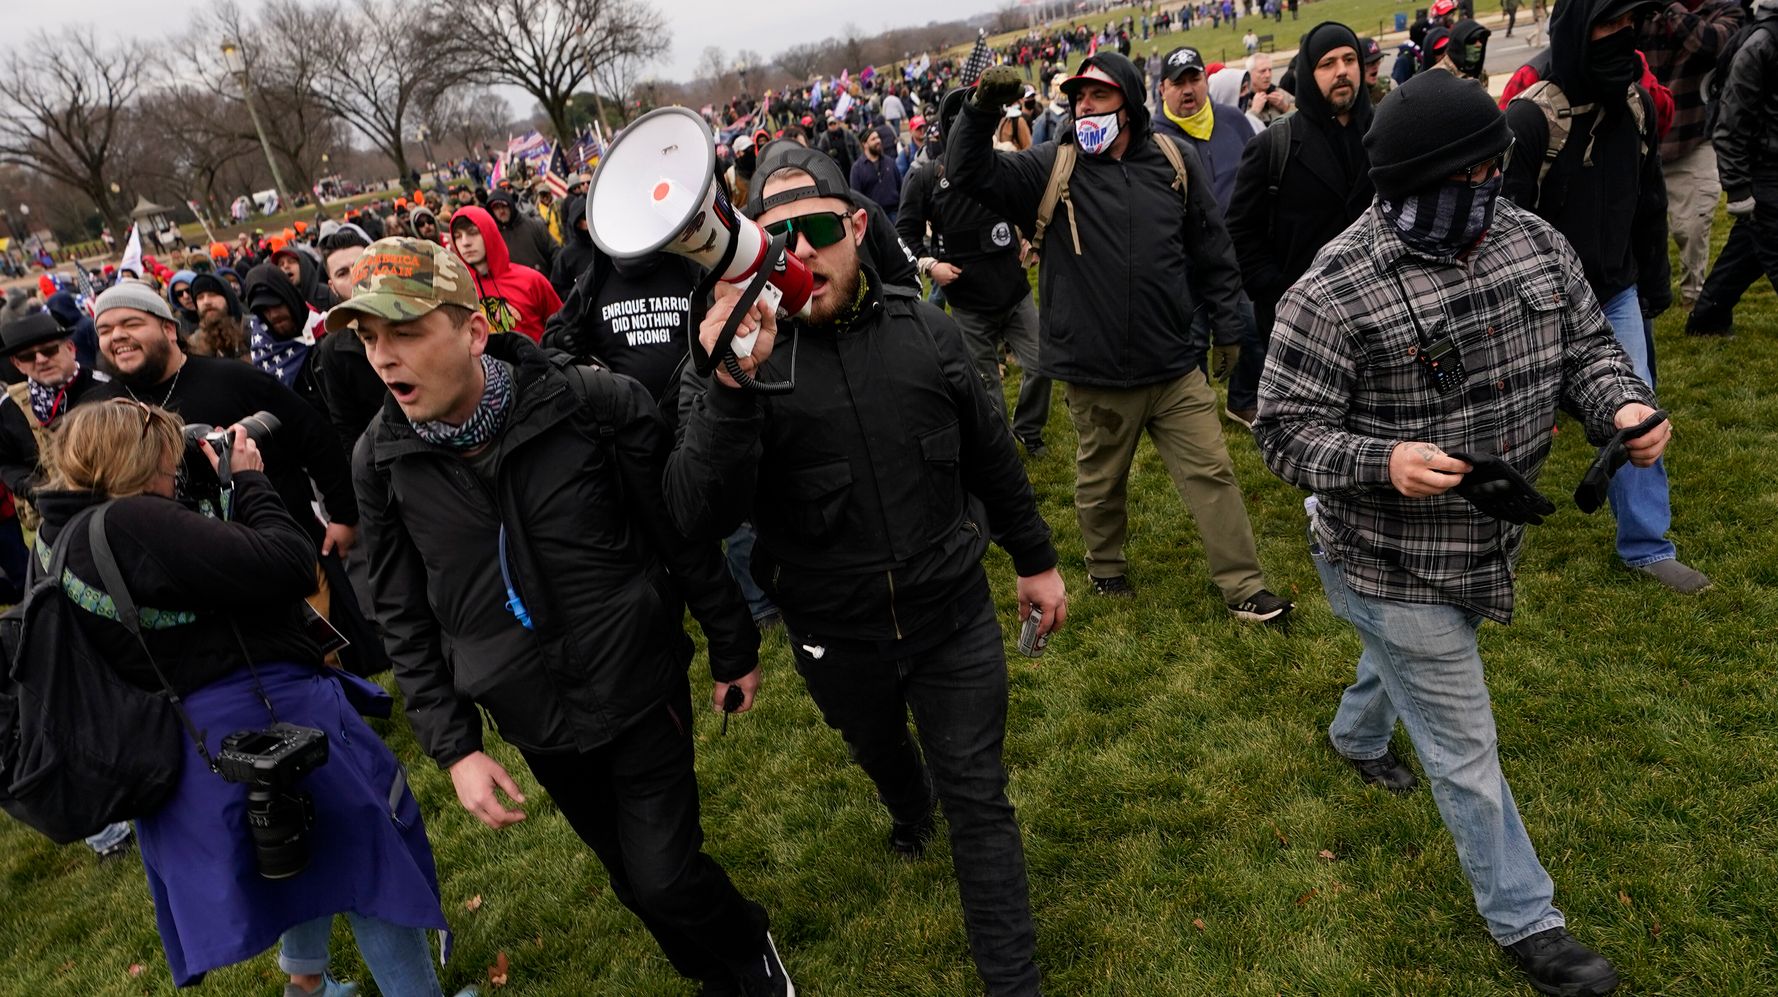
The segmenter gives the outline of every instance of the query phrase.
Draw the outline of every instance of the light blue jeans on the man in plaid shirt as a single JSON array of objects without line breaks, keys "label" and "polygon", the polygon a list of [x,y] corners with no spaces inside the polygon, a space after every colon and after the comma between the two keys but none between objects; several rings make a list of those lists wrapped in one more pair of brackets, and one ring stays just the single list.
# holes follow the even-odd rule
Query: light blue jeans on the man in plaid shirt
[{"label": "light blue jeans on the man in plaid shirt", "polygon": [[1481,618],[1456,606],[1358,595],[1319,544],[1310,540],[1309,549],[1334,615],[1364,640],[1358,677],[1328,727],[1334,748],[1351,759],[1382,757],[1401,720],[1488,933],[1511,945],[1563,924],[1552,905],[1556,887],[1501,773],[1494,707],[1476,652]]}]

